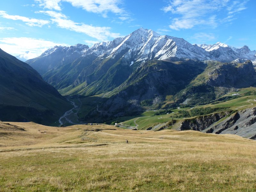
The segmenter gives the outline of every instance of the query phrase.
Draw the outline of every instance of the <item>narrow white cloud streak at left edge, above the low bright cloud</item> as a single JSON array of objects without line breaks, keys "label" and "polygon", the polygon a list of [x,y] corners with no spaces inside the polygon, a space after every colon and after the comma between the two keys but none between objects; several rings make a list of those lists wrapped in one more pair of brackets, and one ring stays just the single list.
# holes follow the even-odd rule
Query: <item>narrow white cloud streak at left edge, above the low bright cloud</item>
[{"label": "narrow white cloud streak at left edge, above the low bright cloud", "polygon": [[5,11],[0,11],[0,16],[5,19],[11,19],[11,20],[21,20],[25,22],[28,26],[38,26],[42,27],[43,25],[46,25],[49,23],[47,20],[42,19],[30,19],[27,17],[19,16],[19,15],[9,15]]}]

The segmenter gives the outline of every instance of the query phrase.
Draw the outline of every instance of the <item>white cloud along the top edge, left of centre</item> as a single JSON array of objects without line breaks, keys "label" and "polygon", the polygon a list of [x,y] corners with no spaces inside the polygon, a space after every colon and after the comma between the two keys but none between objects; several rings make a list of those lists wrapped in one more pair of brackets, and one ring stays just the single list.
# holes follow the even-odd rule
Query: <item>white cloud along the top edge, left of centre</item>
[{"label": "white cloud along the top edge, left of centre", "polygon": [[35,0],[46,9],[61,11],[61,2],[68,2],[73,7],[79,7],[87,12],[101,14],[107,17],[108,12],[121,16],[121,20],[129,17],[129,14],[120,7],[121,0]]}]

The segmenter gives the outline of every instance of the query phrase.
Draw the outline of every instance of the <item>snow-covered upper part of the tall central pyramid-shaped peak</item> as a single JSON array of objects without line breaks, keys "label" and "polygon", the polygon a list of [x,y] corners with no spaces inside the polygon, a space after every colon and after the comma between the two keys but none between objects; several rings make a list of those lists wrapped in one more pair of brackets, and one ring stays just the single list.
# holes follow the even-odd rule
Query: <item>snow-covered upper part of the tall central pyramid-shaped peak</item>
[{"label": "snow-covered upper part of the tall central pyramid-shaped peak", "polygon": [[99,54],[104,53],[112,58],[122,52],[125,59],[132,61],[165,60],[170,57],[210,59],[208,52],[182,38],[160,36],[156,32],[144,28],[139,28],[124,38],[94,44],[84,54],[92,51]]}]

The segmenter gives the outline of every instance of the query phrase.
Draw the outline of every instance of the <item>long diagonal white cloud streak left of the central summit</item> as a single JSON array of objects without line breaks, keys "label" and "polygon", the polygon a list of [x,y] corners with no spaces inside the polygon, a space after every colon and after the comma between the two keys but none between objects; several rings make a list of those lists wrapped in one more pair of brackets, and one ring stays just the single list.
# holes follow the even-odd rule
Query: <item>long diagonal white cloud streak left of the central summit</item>
[{"label": "long diagonal white cloud streak left of the central summit", "polygon": [[52,17],[52,22],[60,28],[65,28],[77,33],[84,33],[90,37],[93,37],[99,41],[108,41],[108,38],[120,37],[119,33],[112,33],[110,27],[95,27],[84,23],[76,23],[69,20],[67,16],[62,13],[54,11],[39,11],[40,13],[47,14]]}]

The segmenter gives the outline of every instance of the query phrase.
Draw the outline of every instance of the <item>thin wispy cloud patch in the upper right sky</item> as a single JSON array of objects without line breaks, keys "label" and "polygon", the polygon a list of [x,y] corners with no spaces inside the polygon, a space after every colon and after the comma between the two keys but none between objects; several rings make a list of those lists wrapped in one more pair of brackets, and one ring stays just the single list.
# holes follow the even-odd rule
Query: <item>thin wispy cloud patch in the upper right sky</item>
[{"label": "thin wispy cloud patch in the upper right sky", "polygon": [[171,0],[162,10],[177,15],[169,25],[171,29],[190,29],[199,25],[216,28],[221,22],[221,19],[217,18],[217,12],[228,10],[225,19],[233,20],[235,13],[246,9],[247,1],[234,1],[230,5],[229,0]]}]

